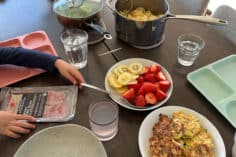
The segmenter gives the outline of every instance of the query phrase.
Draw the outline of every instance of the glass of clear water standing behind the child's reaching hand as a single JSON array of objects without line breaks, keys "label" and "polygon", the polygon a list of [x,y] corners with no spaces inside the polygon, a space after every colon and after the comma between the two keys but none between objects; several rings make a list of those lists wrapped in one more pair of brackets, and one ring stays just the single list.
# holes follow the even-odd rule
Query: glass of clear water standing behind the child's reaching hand
[{"label": "glass of clear water standing behind the child's reaching hand", "polygon": [[61,34],[61,41],[69,63],[77,69],[87,65],[88,34],[81,29],[67,29]]}]

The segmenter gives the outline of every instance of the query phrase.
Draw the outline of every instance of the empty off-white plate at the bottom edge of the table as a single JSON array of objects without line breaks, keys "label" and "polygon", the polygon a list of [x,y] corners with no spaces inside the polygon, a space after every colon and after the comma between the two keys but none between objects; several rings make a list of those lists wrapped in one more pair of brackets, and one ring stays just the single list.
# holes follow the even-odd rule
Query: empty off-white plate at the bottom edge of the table
[{"label": "empty off-white plate at the bottom edge of the table", "polygon": [[30,137],[14,157],[107,157],[102,143],[87,128],[67,124]]}]

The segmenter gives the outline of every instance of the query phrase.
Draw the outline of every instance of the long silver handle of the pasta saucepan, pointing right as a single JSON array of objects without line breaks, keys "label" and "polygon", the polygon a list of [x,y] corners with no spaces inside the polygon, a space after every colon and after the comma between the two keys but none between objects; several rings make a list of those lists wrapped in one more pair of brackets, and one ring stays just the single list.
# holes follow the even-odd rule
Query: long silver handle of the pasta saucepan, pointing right
[{"label": "long silver handle of the pasta saucepan, pointing right", "polygon": [[183,19],[183,20],[191,20],[202,23],[208,23],[213,25],[226,25],[228,21],[221,20],[218,18],[214,18],[212,16],[197,16],[197,15],[170,15],[167,19]]}]

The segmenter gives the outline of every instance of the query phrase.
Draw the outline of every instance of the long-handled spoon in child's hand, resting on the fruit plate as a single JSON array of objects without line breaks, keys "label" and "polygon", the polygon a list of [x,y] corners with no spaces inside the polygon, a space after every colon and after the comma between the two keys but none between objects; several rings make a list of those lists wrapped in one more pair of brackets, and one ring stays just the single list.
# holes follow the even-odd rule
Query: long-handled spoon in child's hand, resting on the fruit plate
[{"label": "long-handled spoon in child's hand, resting on the fruit plate", "polygon": [[119,94],[115,93],[115,92],[109,92],[105,89],[102,89],[102,88],[99,88],[99,87],[96,87],[94,85],[91,85],[91,84],[87,84],[87,83],[81,83],[81,86],[84,86],[84,87],[88,87],[88,88],[91,88],[91,89],[95,89],[97,91],[100,91],[100,92],[103,92],[103,93],[106,93],[108,95],[112,95],[112,96],[115,96],[117,98],[119,98],[120,100],[122,100],[123,102],[125,102],[124,104],[129,106],[129,107],[132,107],[132,108],[137,108],[137,109],[145,109],[147,107],[141,107],[141,106],[135,106],[135,105],[132,105],[128,100],[126,100],[125,98],[123,98],[122,96],[120,96]]}]

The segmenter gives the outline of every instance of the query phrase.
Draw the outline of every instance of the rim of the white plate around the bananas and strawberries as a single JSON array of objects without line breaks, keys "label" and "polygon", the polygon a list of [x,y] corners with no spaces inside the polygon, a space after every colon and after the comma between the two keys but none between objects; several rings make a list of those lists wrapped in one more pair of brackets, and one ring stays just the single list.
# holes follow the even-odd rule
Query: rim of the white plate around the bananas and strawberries
[{"label": "rim of the white plate around the bananas and strawberries", "polygon": [[[168,81],[170,81],[170,83],[171,83],[170,89],[168,90],[167,98],[166,98],[165,100],[161,101],[159,105],[156,104],[156,105],[151,106],[151,107],[148,107],[148,108],[135,108],[135,107],[130,107],[130,106],[128,106],[128,105],[125,105],[125,104],[119,102],[119,100],[117,100],[115,97],[112,97],[112,95],[109,95],[109,97],[110,97],[113,101],[115,101],[117,104],[119,104],[120,106],[122,106],[122,107],[124,107],[124,108],[127,108],[127,109],[130,109],[130,110],[135,110],[135,111],[148,111],[148,110],[156,109],[156,108],[158,108],[158,107],[164,105],[164,104],[170,99],[170,97],[171,97],[171,95],[172,95],[172,92],[173,92],[173,88],[174,88],[173,80],[172,80],[172,77],[171,77],[170,73],[166,70],[166,68],[164,68],[160,63],[158,63],[158,62],[156,62],[156,61],[153,61],[153,60],[150,60],[150,59],[146,59],[146,58],[127,58],[127,59],[123,59],[123,60],[117,62],[116,64],[112,65],[112,66],[108,69],[108,71],[106,72],[105,81],[104,81],[104,83],[105,83],[105,89],[106,89],[107,91],[112,90],[112,88],[109,87],[110,85],[108,84],[107,76],[108,76],[108,74],[109,74],[115,67],[117,67],[118,65],[122,64],[123,62],[131,62],[131,61],[137,62],[137,60],[141,60],[142,62],[144,62],[144,61],[145,61],[145,62],[148,62],[148,63],[150,63],[150,65],[152,65],[152,64],[159,64],[159,65],[161,66],[162,71],[164,72],[164,74],[165,74],[166,77],[168,78]],[[116,92],[115,90],[112,90],[112,91]]]}]

